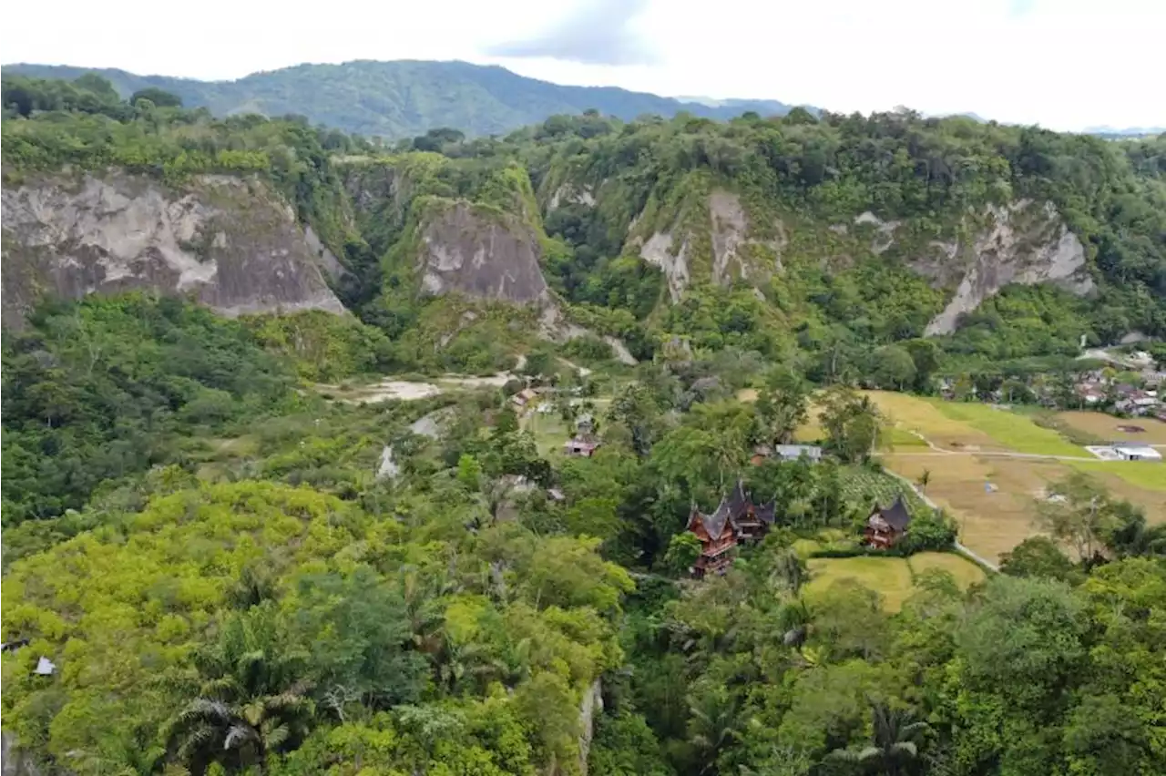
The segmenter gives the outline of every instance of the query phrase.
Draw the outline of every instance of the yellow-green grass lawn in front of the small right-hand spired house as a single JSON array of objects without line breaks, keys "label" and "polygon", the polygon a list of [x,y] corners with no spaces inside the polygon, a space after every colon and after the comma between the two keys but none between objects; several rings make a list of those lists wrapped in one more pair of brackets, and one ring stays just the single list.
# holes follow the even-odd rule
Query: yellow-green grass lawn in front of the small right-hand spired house
[{"label": "yellow-green grass lawn in front of the small right-hand spired house", "polygon": [[957,555],[923,552],[912,558],[813,558],[809,560],[808,593],[828,590],[834,583],[854,579],[883,597],[887,612],[898,612],[915,591],[914,577],[927,569],[951,572],[964,590],[984,578],[976,564]]}]

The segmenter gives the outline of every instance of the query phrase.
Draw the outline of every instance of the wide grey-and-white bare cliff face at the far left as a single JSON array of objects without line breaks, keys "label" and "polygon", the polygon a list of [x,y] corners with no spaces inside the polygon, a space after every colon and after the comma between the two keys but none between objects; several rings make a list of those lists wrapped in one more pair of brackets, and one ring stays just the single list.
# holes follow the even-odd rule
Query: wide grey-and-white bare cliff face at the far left
[{"label": "wide grey-and-white bare cliff face at the far left", "polygon": [[108,174],[0,189],[0,320],[20,326],[42,294],[131,289],[192,295],[231,316],[340,313],[315,244],[258,181],[204,176],[175,192]]}]

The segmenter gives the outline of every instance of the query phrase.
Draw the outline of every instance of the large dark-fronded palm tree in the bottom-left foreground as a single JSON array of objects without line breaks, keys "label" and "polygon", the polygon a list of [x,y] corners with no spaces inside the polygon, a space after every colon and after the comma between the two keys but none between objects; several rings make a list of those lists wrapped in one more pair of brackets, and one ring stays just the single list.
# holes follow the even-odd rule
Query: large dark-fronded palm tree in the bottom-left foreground
[{"label": "large dark-fronded palm tree in the bottom-left foreground", "polygon": [[203,685],[167,736],[168,750],[192,776],[212,763],[262,774],[271,754],[295,748],[309,733],[309,684],[298,656],[275,649],[272,616],[268,607],[257,607],[230,620],[219,643],[197,658]]}]

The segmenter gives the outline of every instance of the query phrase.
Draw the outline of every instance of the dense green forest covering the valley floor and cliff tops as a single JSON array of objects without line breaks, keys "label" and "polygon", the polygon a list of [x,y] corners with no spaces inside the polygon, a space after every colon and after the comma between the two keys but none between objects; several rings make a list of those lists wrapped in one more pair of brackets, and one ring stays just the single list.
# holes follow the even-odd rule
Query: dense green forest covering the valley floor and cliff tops
[{"label": "dense green forest covering the valley floor and cliff tops", "polygon": [[[1160,336],[1166,140],[902,112],[591,112],[386,148],[134,97],[0,77],[0,185],[66,168],[176,189],[262,176],[345,263],[357,315],[230,320],[139,292],[45,299],[0,334],[5,769],[1166,773],[1166,530],[1082,474],[1051,486],[1048,537],[957,579],[927,565],[964,563],[955,521],[881,470],[897,430],[854,389],[1044,373],[1082,334]],[[792,234],[870,211],[923,242],[1048,200],[1097,292],[1009,289],[928,338],[942,290],[902,255],[838,263],[791,238],[782,271],[697,281],[673,304],[632,223],[707,221],[691,203],[718,188]],[[459,200],[529,230],[550,298],[593,336],[552,344],[528,310],[419,297],[419,230]],[[641,362],[612,364],[602,334]],[[417,402],[321,385],[496,368],[501,388]],[[564,428],[588,416],[593,457],[548,452],[513,410],[526,386]],[[820,461],[758,453],[809,425]],[[772,529],[690,579],[689,518],[735,484]],[[871,507],[898,499],[912,528],[870,557]],[[831,559],[901,563],[912,592],[892,606],[816,584]]]}]

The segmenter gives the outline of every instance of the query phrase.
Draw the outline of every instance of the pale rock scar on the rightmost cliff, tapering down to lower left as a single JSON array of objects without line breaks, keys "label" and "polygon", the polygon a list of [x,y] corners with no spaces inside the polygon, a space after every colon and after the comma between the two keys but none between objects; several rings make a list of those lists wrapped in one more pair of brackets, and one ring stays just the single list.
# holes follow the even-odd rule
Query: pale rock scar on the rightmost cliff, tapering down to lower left
[{"label": "pale rock scar on the rightmost cliff, tapering down to lower left", "polygon": [[955,296],[928,324],[928,336],[954,332],[960,316],[1011,283],[1055,283],[1079,295],[1094,289],[1086,269],[1086,248],[1052,203],[1041,207],[1023,199],[989,207],[988,217],[988,227],[969,245],[934,242],[937,261],[912,262],[941,285],[958,280]]}]

